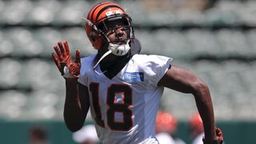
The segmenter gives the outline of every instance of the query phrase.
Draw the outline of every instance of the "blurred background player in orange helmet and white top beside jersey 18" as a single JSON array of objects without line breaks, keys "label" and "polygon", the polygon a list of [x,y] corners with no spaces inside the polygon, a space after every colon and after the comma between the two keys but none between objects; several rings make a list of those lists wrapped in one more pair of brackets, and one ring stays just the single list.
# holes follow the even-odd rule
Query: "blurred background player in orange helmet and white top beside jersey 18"
[{"label": "blurred background player in orange helmet and white top beside jersey 18", "polygon": [[160,144],[186,144],[181,138],[175,136],[178,122],[172,114],[159,110],[156,118],[155,132]]}]

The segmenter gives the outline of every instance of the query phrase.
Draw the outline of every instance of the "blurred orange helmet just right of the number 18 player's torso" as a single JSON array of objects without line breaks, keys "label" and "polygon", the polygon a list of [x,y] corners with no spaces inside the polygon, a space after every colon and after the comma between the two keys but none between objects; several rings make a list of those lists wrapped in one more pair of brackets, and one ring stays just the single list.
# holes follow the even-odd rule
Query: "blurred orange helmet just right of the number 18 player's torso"
[{"label": "blurred orange helmet just right of the number 18 player's torso", "polygon": [[165,110],[158,111],[155,125],[156,133],[166,132],[169,134],[173,134],[177,128],[177,125],[178,122],[172,114]]}]

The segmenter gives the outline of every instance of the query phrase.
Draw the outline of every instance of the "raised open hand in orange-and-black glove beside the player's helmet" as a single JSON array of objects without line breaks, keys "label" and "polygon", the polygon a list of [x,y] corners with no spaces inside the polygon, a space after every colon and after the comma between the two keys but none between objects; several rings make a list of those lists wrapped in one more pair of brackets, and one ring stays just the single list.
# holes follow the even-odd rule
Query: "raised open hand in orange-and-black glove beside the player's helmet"
[{"label": "raised open hand in orange-and-black glove beside the player's helmet", "polygon": [[51,56],[64,78],[79,78],[80,77],[80,51],[76,50],[75,61],[73,62],[70,47],[66,41],[58,42],[58,46],[54,46],[55,53]]}]

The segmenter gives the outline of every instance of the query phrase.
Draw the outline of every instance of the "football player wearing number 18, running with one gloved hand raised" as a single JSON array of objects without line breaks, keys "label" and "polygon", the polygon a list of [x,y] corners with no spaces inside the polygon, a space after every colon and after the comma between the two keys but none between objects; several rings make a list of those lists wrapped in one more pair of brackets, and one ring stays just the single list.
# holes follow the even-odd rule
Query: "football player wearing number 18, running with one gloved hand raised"
[{"label": "football player wearing number 18, running with one gloved hand raised", "polygon": [[122,6],[98,3],[85,18],[85,30],[97,54],[80,58],[77,50],[73,61],[66,41],[58,42],[52,53],[66,80],[64,120],[69,130],[82,128],[90,108],[102,143],[158,143],[155,119],[166,87],[194,95],[205,142],[218,141],[206,84],[172,65],[172,58],[138,54],[132,21]]}]

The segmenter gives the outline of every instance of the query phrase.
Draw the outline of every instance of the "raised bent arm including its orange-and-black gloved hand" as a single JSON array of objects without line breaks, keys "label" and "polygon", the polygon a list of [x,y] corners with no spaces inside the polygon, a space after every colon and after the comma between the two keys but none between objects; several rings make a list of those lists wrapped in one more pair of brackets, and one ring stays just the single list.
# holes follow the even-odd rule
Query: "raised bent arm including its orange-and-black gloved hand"
[{"label": "raised bent arm including its orange-and-black gloved hand", "polygon": [[86,119],[89,110],[89,96],[86,86],[78,82],[80,77],[80,51],[76,51],[75,61],[72,60],[70,48],[66,41],[54,46],[52,57],[62,77],[66,81],[66,99],[64,119],[71,131],[79,130]]}]

